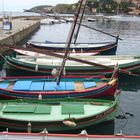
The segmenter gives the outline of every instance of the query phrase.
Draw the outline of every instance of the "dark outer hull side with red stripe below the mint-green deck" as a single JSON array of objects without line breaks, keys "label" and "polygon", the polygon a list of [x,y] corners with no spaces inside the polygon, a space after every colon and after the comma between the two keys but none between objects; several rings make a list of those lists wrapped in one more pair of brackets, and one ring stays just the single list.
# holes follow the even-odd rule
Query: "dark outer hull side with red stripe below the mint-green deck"
[{"label": "dark outer hull side with red stripe below the mint-green deck", "polygon": [[[92,125],[96,125],[102,122],[107,122],[110,120],[113,120],[116,115],[116,107],[114,109],[110,110],[108,114],[101,114],[102,118],[97,118],[95,119],[94,117],[86,118],[83,119],[82,121],[80,120],[79,124],[78,121],[76,122],[78,125],[75,127],[69,127],[65,126],[62,121],[61,122],[30,122],[32,125],[32,132],[41,132],[45,128],[49,132],[64,132],[64,131],[72,131],[72,130],[78,130],[78,129],[84,129],[85,127],[89,127]],[[17,120],[8,120],[4,118],[0,118],[0,126],[13,129],[13,130],[18,130],[21,132],[27,132],[27,125],[28,121],[17,121]]]}]

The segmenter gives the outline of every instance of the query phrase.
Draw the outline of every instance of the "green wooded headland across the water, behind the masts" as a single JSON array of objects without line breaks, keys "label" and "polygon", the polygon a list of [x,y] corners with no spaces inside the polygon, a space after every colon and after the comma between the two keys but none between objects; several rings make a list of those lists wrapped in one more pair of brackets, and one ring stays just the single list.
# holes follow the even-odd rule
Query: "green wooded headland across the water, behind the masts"
[{"label": "green wooded headland across the water, behind the masts", "polygon": [[[130,6],[133,6],[132,2],[117,3],[114,0],[88,0],[87,10],[90,10],[90,12],[92,12],[92,9],[95,8],[98,13],[101,12],[101,13],[116,14],[117,11],[121,13],[128,13],[130,11],[129,8]],[[51,6],[41,5],[41,6],[33,7],[31,10],[51,12],[51,13],[61,13],[61,14],[73,14],[76,10],[77,3],[57,4],[52,8],[50,7]]]}]

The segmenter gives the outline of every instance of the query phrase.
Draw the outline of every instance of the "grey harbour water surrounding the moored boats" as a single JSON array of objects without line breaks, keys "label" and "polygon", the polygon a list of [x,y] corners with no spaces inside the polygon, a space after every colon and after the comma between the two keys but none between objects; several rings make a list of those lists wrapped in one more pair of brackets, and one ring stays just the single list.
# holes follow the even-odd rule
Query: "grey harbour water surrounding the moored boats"
[{"label": "grey harbour water surrounding the moored boats", "polygon": [[[112,35],[119,35],[117,55],[140,56],[140,17],[116,17],[114,20],[86,22],[93,28]],[[67,40],[71,23],[41,25],[27,41],[62,41]],[[110,42],[115,38],[100,32],[81,27],[77,42]],[[140,135],[140,77],[125,75],[120,78],[119,88],[122,90],[117,117],[114,123],[102,124],[86,128],[89,134]],[[76,133],[76,132],[74,132]]]}]

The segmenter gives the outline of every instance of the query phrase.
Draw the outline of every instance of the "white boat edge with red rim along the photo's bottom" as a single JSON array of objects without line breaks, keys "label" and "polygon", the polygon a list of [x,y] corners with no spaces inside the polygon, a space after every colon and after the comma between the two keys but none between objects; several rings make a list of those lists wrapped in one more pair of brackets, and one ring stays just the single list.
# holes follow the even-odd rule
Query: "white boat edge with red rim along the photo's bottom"
[{"label": "white boat edge with red rim along the photo's bottom", "polygon": [[[85,134],[83,134],[85,133]],[[85,131],[80,134],[49,134],[49,133],[15,133],[1,132],[2,140],[45,140],[45,139],[61,139],[61,140],[140,140],[140,136],[129,136],[123,134],[117,135],[88,135]]]}]

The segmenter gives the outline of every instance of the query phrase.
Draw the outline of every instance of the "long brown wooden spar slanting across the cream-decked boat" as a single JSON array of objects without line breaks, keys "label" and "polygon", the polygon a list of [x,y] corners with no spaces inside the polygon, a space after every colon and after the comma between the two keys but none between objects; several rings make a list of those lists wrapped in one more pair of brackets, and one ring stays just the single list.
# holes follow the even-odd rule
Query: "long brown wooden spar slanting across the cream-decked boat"
[{"label": "long brown wooden spar slanting across the cream-decked boat", "polygon": [[[12,49],[12,50],[21,48],[21,47],[11,46],[11,45],[6,45],[6,46],[3,46],[3,47],[4,48],[7,47],[7,48]],[[49,52],[49,51],[40,50],[40,49],[23,48],[23,47],[22,47],[22,49],[27,50],[27,51],[42,53],[42,54],[45,54],[45,55],[54,56],[54,57],[58,57],[58,58],[63,58],[63,55],[56,54],[56,53]],[[98,63],[95,63],[95,62],[90,62],[90,61],[87,61],[87,60],[81,60],[81,59],[73,58],[73,57],[70,57],[70,56],[68,56],[67,59],[72,60],[72,61],[76,61],[76,62],[80,62],[80,63],[84,63],[84,64],[88,64],[88,65],[91,65],[91,66],[97,66],[97,67],[105,68],[105,69],[112,70],[112,71],[114,70],[114,68],[112,68],[110,66],[106,66],[106,65],[103,65],[103,64],[98,64]],[[123,69],[119,69],[119,72],[124,73],[124,74],[128,74],[128,75],[138,76],[137,74],[134,74],[132,72],[129,72],[129,71],[123,70]]]}]

